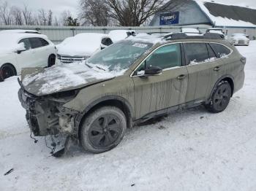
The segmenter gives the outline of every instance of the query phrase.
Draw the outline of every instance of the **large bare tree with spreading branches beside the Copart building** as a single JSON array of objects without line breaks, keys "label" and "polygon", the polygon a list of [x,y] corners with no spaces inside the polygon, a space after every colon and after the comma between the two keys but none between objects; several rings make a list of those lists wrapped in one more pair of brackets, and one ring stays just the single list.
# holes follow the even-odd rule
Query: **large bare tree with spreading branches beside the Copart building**
[{"label": "large bare tree with spreading branches beside the Copart building", "polygon": [[104,0],[108,15],[118,20],[121,26],[140,26],[149,17],[160,11],[184,6],[189,0]]}]

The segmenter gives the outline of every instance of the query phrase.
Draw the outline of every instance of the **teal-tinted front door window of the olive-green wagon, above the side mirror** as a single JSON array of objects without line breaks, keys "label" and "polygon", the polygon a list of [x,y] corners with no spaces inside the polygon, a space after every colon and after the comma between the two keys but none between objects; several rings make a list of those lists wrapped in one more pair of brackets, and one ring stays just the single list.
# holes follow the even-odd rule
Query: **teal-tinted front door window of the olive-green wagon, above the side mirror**
[{"label": "teal-tinted front door window of the olive-green wagon, above the side mirror", "polygon": [[146,60],[146,66],[158,66],[161,69],[169,69],[181,66],[180,44],[169,44],[157,49]]}]

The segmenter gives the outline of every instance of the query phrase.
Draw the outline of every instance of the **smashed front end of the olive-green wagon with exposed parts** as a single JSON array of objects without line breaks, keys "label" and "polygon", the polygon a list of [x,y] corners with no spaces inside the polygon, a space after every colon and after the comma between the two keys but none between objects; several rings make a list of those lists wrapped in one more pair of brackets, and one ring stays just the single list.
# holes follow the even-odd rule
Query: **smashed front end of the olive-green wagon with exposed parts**
[{"label": "smashed front end of the olive-green wagon with exposed parts", "polygon": [[[18,98],[26,109],[26,120],[34,136],[51,136],[53,138],[78,140],[78,126],[82,114],[63,105],[75,97],[76,93],[35,96],[28,93],[20,80]],[[52,139],[53,140],[53,139]],[[50,144],[56,147],[58,141]],[[63,144],[64,145],[64,144]]]}]

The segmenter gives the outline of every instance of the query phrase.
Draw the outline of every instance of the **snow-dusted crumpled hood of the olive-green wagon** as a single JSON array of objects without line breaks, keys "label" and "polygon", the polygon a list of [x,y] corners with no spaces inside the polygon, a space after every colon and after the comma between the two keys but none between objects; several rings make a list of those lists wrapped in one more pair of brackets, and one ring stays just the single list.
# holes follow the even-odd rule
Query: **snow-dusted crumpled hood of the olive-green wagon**
[{"label": "snow-dusted crumpled hood of the olive-green wagon", "polygon": [[85,62],[34,68],[22,71],[24,89],[37,96],[75,90],[97,82],[112,79],[122,73],[90,68]]}]

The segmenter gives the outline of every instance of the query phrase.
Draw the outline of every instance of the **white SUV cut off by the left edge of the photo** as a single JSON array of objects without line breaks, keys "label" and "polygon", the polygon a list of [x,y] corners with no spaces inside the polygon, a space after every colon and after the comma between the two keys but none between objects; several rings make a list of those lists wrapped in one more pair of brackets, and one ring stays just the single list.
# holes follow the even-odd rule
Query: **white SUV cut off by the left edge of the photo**
[{"label": "white SUV cut off by the left edge of the photo", "polygon": [[19,75],[21,69],[53,66],[56,47],[43,34],[0,33],[0,81]]}]

